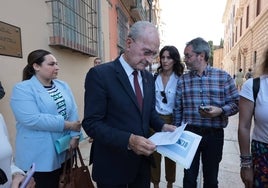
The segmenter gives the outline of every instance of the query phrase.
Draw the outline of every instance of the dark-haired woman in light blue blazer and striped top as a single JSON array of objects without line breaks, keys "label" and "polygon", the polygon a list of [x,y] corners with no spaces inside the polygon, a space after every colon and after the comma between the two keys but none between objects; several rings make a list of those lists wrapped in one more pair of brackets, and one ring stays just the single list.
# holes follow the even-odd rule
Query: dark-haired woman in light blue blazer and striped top
[{"label": "dark-haired woman in light blue blazer and striped top", "polygon": [[70,147],[79,143],[81,123],[69,86],[57,80],[59,66],[48,51],[28,55],[23,81],[16,84],[10,105],[16,118],[15,164],[27,171],[35,163],[37,188],[57,188],[65,152],[58,154],[57,139],[70,134]]}]

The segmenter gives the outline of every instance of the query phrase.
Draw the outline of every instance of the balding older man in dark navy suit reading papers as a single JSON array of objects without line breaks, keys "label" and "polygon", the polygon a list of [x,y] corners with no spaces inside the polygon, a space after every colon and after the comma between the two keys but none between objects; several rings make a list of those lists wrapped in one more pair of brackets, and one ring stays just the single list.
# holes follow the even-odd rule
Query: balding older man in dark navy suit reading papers
[{"label": "balding older man in dark navy suit reading papers", "polygon": [[[82,126],[94,140],[92,177],[98,188],[149,188],[150,155],[156,149],[147,139],[149,127],[155,131],[176,128],[164,124],[156,113],[154,79],[145,70],[157,56],[159,43],[153,24],[136,22],[130,28],[124,53],[87,73]],[[138,72],[142,104],[136,97],[134,70]]]}]

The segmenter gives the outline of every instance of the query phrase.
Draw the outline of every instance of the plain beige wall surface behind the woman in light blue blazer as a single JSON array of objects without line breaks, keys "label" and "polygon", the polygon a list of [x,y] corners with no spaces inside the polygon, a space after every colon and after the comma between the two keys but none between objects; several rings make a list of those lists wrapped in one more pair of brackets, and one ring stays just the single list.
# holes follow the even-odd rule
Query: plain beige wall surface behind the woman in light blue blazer
[{"label": "plain beige wall surface behind the woman in light blue blazer", "polygon": [[[51,9],[45,1],[1,1],[0,21],[21,29],[23,52],[23,58],[0,55],[0,80],[6,90],[6,96],[0,101],[0,113],[3,114],[8,125],[12,145],[14,145],[16,131],[15,119],[9,106],[10,94],[14,84],[21,81],[22,69],[27,63],[28,53],[32,50],[42,48],[55,55],[60,66],[58,78],[70,85],[78,105],[80,119],[83,118],[84,80],[87,71],[93,66],[94,58],[71,50],[50,47],[47,25],[50,17]],[[103,33],[103,35],[108,34]]]}]

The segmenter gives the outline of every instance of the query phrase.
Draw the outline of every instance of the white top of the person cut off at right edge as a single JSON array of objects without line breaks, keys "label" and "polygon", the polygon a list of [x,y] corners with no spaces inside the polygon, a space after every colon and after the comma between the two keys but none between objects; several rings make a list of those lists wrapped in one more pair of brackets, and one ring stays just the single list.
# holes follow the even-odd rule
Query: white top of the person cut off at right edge
[{"label": "white top of the person cut off at right edge", "polygon": [[[240,96],[254,102],[253,79],[248,79],[240,91]],[[255,120],[252,139],[268,143],[268,75],[260,77],[260,90],[256,99]]]}]

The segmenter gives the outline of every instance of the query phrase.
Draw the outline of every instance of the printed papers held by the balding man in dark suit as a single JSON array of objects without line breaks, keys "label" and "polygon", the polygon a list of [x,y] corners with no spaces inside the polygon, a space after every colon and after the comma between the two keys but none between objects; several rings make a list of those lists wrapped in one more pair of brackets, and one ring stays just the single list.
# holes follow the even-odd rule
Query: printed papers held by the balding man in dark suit
[{"label": "printed papers held by the balding man in dark suit", "polygon": [[192,164],[194,155],[196,153],[196,150],[202,137],[190,131],[184,131],[185,126],[186,124],[182,124],[181,127],[183,127],[183,129],[180,129],[180,131],[177,130],[178,128],[180,128],[178,127],[174,132],[162,132],[162,133],[174,133],[176,134],[175,136],[173,135],[175,138],[177,138],[177,134],[179,134],[179,137],[175,142],[173,142],[172,140],[172,142],[170,141],[169,144],[164,145],[161,144],[161,142],[168,143],[168,141],[165,140],[164,138],[170,140],[169,138],[171,136],[169,134],[167,134],[166,137],[164,136],[162,137],[164,141],[155,140],[154,135],[152,135],[149,139],[155,144],[160,143],[156,144],[157,145],[156,150],[158,153],[170,158],[171,160],[181,164],[184,168],[188,169]]}]

